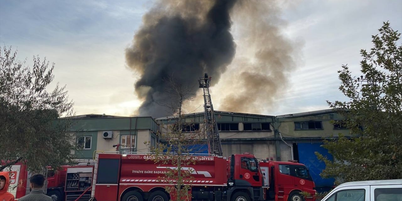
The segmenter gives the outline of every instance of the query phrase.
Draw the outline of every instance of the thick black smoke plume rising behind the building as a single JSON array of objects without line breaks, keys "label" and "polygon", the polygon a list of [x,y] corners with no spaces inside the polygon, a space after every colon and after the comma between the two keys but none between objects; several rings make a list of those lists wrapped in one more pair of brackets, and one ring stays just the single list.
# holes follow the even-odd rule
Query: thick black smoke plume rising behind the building
[{"label": "thick black smoke plume rising behind the building", "polygon": [[236,0],[160,1],[143,18],[143,25],[126,49],[128,68],[141,75],[135,92],[144,102],[140,115],[162,117],[169,113],[158,103],[168,94],[163,79],[198,90],[197,79],[208,72],[215,83],[235,55],[230,33],[230,10]]}]

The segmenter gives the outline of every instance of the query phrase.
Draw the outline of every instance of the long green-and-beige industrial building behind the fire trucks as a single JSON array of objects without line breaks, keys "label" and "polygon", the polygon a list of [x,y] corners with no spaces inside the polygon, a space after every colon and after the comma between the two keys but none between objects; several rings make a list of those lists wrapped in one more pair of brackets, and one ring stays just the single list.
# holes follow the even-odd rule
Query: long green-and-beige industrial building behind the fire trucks
[{"label": "long green-and-beige industrial building behind the fire trucks", "polygon": [[[318,161],[314,152],[332,158],[321,147],[323,139],[337,137],[339,133],[349,135],[341,124],[330,122],[343,119],[331,109],[279,116],[215,111],[215,119],[224,156],[251,152],[260,159],[298,160],[308,166],[318,187],[331,186],[334,180],[320,177],[325,164]],[[69,132],[75,134],[76,142],[81,145],[74,154],[77,158],[91,159],[96,150],[150,152],[144,142],[151,146],[163,142],[157,133],[163,132],[163,127],[174,119],[89,114],[75,116],[73,121]],[[189,133],[202,129],[204,113],[187,114],[185,122],[192,125]]]}]

